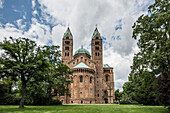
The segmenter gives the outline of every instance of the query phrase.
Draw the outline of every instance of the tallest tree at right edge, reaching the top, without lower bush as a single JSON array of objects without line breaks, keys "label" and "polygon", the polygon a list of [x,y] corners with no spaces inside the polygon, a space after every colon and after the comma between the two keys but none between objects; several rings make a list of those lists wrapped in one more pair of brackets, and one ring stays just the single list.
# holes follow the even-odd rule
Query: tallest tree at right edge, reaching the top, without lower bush
[{"label": "tallest tree at right edge, reaching the top, without lower bush", "polygon": [[170,105],[170,87],[167,87],[170,85],[169,20],[169,0],[155,0],[148,8],[148,15],[141,15],[132,27],[132,38],[138,39],[140,51],[133,59],[130,80],[141,86],[143,72],[154,74],[159,83],[158,100],[165,106]]}]

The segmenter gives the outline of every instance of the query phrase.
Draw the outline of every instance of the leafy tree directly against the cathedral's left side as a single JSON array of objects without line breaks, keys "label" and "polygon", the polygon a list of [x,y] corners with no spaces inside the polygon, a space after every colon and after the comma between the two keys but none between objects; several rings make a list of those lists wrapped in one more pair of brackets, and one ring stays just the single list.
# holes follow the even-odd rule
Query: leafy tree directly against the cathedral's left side
[{"label": "leafy tree directly against the cathedral's left side", "polygon": [[66,93],[66,101],[69,94],[68,85],[70,84],[70,75],[72,71],[68,66],[62,64],[60,59],[61,52],[58,50],[59,46],[44,46],[43,54],[51,64],[51,69],[48,72],[48,96],[49,101],[52,97],[51,89],[55,89],[58,94]]}]

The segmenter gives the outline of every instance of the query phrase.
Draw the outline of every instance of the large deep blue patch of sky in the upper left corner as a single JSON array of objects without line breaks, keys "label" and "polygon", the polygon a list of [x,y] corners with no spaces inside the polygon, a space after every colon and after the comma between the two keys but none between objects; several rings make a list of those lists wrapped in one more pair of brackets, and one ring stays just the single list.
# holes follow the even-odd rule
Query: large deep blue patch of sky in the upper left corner
[{"label": "large deep blue patch of sky in the upper left corner", "polygon": [[0,9],[0,23],[3,25],[11,23],[18,28],[16,20],[22,19],[23,22],[26,22],[28,30],[32,18],[31,6],[31,0],[12,0],[12,2],[11,0],[5,0],[3,8]]}]

